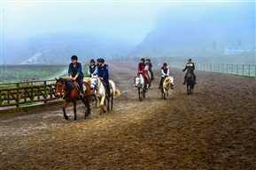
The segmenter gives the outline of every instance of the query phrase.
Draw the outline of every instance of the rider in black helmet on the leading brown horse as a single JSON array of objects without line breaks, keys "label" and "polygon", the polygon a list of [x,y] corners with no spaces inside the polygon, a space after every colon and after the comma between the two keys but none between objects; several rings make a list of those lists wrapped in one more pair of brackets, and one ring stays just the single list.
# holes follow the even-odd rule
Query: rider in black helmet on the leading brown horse
[{"label": "rider in black helmet on the leading brown horse", "polygon": [[78,82],[78,85],[80,87],[80,94],[79,97],[83,98],[83,73],[82,73],[82,67],[81,63],[77,62],[78,57],[76,55],[71,56],[71,63],[68,67],[68,76],[69,79],[75,80]]}]

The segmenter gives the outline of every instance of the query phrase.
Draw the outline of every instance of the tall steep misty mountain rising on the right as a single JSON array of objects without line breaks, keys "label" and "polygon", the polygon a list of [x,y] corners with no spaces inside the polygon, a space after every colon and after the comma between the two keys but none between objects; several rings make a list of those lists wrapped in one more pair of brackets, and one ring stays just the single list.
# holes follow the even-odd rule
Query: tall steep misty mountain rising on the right
[{"label": "tall steep misty mountain rising on the right", "polygon": [[235,63],[255,63],[254,4],[198,4],[190,8],[168,8],[159,14],[157,24],[129,57],[188,57],[203,62],[225,61],[225,48],[244,50],[230,58]]}]

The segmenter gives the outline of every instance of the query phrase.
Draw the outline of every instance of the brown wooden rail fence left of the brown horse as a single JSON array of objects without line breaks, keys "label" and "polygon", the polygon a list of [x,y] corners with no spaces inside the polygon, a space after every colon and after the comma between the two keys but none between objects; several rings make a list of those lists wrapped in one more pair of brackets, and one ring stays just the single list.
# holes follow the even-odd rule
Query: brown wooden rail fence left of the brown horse
[{"label": "brown wooden rail fence left of the brown horse", "polygon": [[55,95],[55,80],[26,83],[0,84],[0,107],[21,107],[36,102],[58,100]]}]

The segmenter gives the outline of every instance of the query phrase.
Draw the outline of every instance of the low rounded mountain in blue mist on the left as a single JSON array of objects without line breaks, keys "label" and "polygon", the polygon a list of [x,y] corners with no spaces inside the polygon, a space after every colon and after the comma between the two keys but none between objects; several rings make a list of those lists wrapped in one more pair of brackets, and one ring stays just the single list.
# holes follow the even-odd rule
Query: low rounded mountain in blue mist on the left
[{"label": "low rounded mountain in blue mist on the left", "polygon": [[91,58],[126,55],[135,45],[90,33],[49,33],[27,41],[3,41],[3,63],[66,63],[72,55],[80,62]]}]

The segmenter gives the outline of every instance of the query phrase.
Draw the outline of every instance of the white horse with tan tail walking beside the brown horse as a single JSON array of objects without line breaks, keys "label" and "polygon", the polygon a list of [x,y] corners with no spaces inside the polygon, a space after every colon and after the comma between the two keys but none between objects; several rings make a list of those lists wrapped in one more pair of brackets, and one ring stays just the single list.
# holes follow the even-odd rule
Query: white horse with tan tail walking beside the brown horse
[{"label": "white horse with tan tail walking beside the brown horse", "polygon": [[[105,113],[105,107],[104,107],[105,100],[107,100],[106,102],[107,111],[111,111],[115,96],[120,94],[120,91],[116,88],[112,80],[109,80],[109,85],[110,85],[110,96],[107,94],[105,90],[104,82],[102,82],[97,77],[92,77],[90,79],[90,88],[93,90],[93,93],[96,96],[97,103],[99,103],[98,107],[99,107],[100,115],[102,114],[102,112]],[[109,104],[110,101],[111,101],[111,107]]]}]

